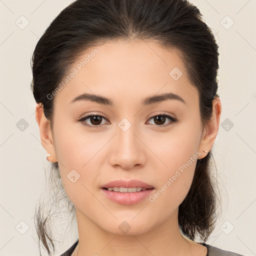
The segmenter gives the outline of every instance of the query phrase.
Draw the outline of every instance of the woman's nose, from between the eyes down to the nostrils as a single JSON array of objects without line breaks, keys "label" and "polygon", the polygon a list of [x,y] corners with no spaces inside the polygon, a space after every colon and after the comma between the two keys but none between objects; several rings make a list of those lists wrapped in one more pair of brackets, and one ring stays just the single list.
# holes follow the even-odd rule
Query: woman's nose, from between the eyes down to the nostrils
[{"label": "woman's nose, from between the eyes down to the nostrils", "polygon": [[112,165],[117,164],[125,169],[129,169],[136,164],[143,164],[143,148],[134,133],[137,133],[136,125],[131,124],[127,119],[125,120],[124,118],[118,123],[115,142],[110,156],[110,163]]}]

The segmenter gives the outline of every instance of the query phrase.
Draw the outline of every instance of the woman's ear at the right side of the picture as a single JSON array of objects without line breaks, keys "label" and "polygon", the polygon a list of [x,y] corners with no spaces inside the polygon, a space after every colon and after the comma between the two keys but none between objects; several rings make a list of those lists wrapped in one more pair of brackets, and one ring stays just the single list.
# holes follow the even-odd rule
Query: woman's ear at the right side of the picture
[{"label": "woman's ear at the right side of the picture", "polygon": [[201,151],[201,156],[199,156],[198,159],[201,159],[207,155],[207,153],[203,152],[203,150],[209,152],[215,141],[218,132],[220,114],[221,102],[219,97],[215,96],[212,101],[212,116],[205,125],[199,144],[199,151]]}]

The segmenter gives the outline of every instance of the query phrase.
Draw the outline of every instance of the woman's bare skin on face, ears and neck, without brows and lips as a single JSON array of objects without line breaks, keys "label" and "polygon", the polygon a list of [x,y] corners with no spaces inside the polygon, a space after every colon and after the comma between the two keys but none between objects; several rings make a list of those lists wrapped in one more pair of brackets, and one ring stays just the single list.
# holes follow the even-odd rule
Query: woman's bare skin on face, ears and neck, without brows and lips
[{"label": "woman's bare skin on face, ears and neck, without brows and lips", "polygon": [[[36,106],[41,143],[51,154],[47,159],[58,161],[64,189],[76,210],[79,247],[72,255],[77,255],[77,248],[78,255],[206,255],[206,247],[180,234],[177,219],[196,161],[154,202],[146,198],[118,204],[100,187],[114,179],[136,178],[157,191],[196,151],[198,159],[205,157],[203,150],[210,150],[217,135],[220,99],[214,98],[212,118],[203,129],[198,92],[175,49],[153,41],[108,41],[96,48],[98,54],[55,95],[52,130],[42,107]],[[93,49],[82,52],[73,67]],[[183,73],[178,80],[169,75],[174,67]],[[69,103],[84,92],[111,98],[114,105]],[[178,94],[185,103],[168,99],[140,105],[145,97],[164,92]],[[76,121],[90,113],[106,118],[101,127]],[[162,123],[169,125],[159,128],[150,117],[162,113],[178,121],[166,118]],[[118,126],[123,118],[131,123],[125,132]],[[90,119],[86,123],[92,125]],[[66,177],[72,169],[80,174],[74,183]],[[125,234],[118,228],[123,221],[131,227]]]}]

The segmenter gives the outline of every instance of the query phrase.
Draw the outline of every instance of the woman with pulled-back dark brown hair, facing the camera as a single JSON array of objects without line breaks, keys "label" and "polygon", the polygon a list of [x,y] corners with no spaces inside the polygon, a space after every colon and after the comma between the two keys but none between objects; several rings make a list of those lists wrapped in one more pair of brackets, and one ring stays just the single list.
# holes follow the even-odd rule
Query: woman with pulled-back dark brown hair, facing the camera
[{"label": "woman with pulled-back dark brown hair, facing the camera", "polygon": [[[217,217],[217,70],[214,36],[188,1],[77,0],[52,21],[31,87],[46,158],[77,219],[62,256],[239,255],[205,243]],[[39,207],[50,255],[47,221]]]}]

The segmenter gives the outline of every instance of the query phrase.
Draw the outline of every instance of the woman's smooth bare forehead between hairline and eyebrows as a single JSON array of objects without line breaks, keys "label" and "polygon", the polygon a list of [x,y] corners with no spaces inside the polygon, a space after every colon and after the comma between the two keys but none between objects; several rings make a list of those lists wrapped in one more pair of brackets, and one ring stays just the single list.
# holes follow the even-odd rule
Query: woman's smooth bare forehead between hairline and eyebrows
[{"label": "woman's smooth bare forehead between hairline and eyebrows", "polygon": [[108,41],[91,47],[80,53],[71,73],[74,75],[57,93],[56,101],[69,103],[89,92],[130,102],[158,91],[182,94],[183,98],[190,95],[192,100],[191,92],[195,91],[180,52],[154,41]]}]

